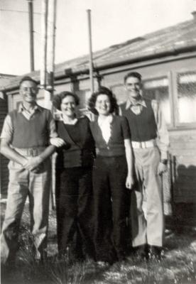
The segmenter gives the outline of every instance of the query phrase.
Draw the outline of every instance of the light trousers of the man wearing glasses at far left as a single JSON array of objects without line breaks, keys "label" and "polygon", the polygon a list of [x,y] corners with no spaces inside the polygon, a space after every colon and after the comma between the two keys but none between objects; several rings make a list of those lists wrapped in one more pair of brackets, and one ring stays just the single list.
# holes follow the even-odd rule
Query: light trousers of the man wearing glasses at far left
[{"label": "light trousers of the man wearing glasses at far left", "polygon": [[25,170],[16,162],[9,162],[8,197],[1,233],[2,263],[15,258],[18,249],[18,231],[27,197],[29,197],[35,257],[43,256],[47,245],[50,180],[50,158],[41,164],[39,173]]}]

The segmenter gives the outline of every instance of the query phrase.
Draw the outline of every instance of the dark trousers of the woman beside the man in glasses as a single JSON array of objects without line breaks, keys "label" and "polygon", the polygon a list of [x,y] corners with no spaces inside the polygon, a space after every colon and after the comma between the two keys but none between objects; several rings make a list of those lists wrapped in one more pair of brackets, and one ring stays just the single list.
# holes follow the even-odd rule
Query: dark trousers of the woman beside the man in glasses
[{"label": "dark trousers of the woman beside the man in glasses", "polygon": [[58,250],[72,258],[93,257],[92,168],[65,168],[56,173]]}]

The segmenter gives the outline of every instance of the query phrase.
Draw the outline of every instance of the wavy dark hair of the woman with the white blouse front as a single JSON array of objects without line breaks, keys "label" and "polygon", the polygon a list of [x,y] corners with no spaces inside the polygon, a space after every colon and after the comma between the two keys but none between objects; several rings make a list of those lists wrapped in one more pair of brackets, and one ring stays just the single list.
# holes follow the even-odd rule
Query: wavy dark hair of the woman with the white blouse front
[{"label": "wavy dark hair of the woman with the white blouse front", "polygon": [[93,114],[96,114],[96,115],[98,114],[97,109],[95,109],[95,104],[96,104],[97,97],[99,96],[99,94],[106,94],[107,97],[109,97],[109,101],[111,104],[109,113],[111,114],[112,112],[115,112],[116,114],[118,114],[119,107],[116,102],[116,97],[114,96],[114,94],[111,92],[110,89],[108,89],[107,87],[103,87],[103,86],[99,87],[99,90],[97,92],[94,92],[92,96],[89,98],[89,101],[88,101],[89,111],[92,111]]}]

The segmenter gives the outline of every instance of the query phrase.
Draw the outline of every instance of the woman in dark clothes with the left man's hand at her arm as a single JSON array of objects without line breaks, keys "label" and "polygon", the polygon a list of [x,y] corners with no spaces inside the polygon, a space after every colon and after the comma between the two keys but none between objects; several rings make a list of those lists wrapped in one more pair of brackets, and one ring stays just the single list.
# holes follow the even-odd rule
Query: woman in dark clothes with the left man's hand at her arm
[{"label": "woman in dark clothes with the left man's hand at her arm", "polygon": [[[70,261],[93,257],[92,236],[92,164],[94,141],[87,116],[76,116],[79,98],[61,92],[53,101],[60,110],[56,121],[59,138],[56,159],[56,207],[58,250]],[[67,255],[68,254],[68,255]]]}]

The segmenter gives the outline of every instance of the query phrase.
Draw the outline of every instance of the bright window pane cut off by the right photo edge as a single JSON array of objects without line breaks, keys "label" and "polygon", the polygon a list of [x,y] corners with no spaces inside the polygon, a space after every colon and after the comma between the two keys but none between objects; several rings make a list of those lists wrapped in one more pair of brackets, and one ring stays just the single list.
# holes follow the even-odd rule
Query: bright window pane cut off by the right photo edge
[{"label": "bright window pane cut off by the right photo edge", "polygon": [[177,78],[179,122],[196,122],[196,72],[179,73]]}]

